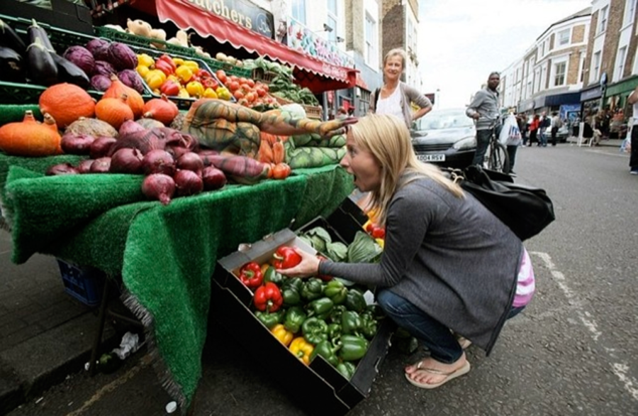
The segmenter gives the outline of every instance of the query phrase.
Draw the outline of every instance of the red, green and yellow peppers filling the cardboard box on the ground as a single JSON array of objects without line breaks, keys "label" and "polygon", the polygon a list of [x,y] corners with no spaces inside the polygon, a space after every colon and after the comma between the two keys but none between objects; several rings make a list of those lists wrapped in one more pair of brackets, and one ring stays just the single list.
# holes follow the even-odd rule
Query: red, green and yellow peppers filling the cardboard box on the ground
[{"label": "red, green and yellow peppers filling the cardboard box on the ground", "polygon": [[349,380],[384,314],[378,305],[368,305],[365,288],[346,280],[325,275],[288,278],[275,271],[299,262],[294,248],[281,246],[269,261],[245,263],[237,278],[254,293],[257,319],[291,354],[306,365],[323,356]]}]

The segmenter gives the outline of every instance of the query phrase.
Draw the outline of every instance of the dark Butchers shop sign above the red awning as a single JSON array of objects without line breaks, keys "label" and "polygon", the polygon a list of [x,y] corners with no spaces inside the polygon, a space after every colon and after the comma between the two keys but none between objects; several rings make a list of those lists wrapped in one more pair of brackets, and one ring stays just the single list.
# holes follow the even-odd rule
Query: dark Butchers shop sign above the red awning
[{"label": "dark Butchers shop sign above the red awning", "polygon": [[272,13],[246,0],[181,0],[251,31],[274,38]]}]

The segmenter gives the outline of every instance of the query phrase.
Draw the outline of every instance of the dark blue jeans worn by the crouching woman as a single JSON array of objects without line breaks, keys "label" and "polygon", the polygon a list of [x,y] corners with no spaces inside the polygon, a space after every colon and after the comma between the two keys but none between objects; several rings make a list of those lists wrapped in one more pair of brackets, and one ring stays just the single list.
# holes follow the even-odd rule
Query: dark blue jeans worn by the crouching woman
[{"label": "dark blue jeans worn by the crouching woman", "polygon": [[[409,300],[387,289],[381,290],[376,300],[388,317],[430,350],[430,356],[436,361],[451,364],[463,355],[463,349],[449,328],[430,317]],[[507,319],[515,317],[523,309],[525,309],[524,306],[512,307]]]}]

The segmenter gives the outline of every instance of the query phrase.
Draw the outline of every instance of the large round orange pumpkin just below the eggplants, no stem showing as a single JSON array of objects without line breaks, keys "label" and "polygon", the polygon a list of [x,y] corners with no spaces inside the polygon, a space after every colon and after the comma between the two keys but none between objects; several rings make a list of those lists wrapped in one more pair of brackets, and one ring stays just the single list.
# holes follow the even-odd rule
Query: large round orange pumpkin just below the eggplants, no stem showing
[{"label": "large round orange pumpkin just below the eggplants, no stem showing", "polygon": [[38,101],[42,114],[51,114],[57,126],[65,128],[80,117],[95,114],[95,100],[84,89],[64,82],[48,87]]}]

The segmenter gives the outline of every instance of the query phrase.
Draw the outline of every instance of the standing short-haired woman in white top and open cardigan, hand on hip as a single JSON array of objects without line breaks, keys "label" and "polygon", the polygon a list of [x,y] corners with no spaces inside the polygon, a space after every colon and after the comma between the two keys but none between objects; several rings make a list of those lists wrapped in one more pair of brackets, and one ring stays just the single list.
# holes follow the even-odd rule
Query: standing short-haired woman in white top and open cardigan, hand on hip
[{"label": "standing short-haired woman in white top and open cardigan, hand on hip", "polygon": [[[432,102],[417,89],[401,81],[405,70],[405,51],[401,48],[390,50],[384,58],[384,86],[370,95],[370,112],[393,114],[405,121],[410,128],[413,121],[432,110]],[[419,109],[413,111],[411,103]]]}]

